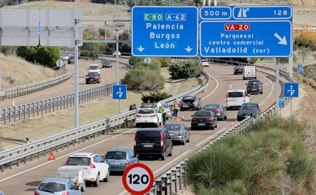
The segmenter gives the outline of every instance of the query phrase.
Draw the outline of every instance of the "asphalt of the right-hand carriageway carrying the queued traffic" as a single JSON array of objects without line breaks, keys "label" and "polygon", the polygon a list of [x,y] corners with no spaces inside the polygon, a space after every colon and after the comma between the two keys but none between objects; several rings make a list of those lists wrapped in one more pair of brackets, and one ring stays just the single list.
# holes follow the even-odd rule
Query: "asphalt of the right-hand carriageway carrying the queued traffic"
[{"label": "asphalt of the right-hand carriageway carrying the queued traffic", "polygon": [[[232,66],[212,64],[210,67],[204,68],[204,70],[211,76],[209,88],[200,95],[203,98],[204,105],[216,102],[225,104],[227,90],[246,88],[246,81],[242,79],[243,75],[233,75]],[[250,101],[257,102],[263,112],[275,102],[276,84],[274,76],[264,72],[258,72],[257,78],[264,83],[264,92],[262,95],[251,95]],[[180,117],[182,114],[184,115],[185,121],[183,123],[187,127],[190,127],[190,115],[193,113],[194,111],[179,112]],[[218,127],[215,130],[190,131],[190,142],[185,145],[174,145],[173,156],[167,157],[166,161],[146,159],[141,160],[140,163],[148,165],[154,172],[154,175],[159,176],[182,161],[190,153],[208,143],[212,137],[214,138],[228,130],[229,124],[234,123],[236,114],[236,110],[227,111],[227,120],[219,121]],[[168,123],[170,122],[175,121],[168,121]],[[56,177],[57,168],[66,161],[70,153],[82,151],[104,155],[112,147],[133,148],[134,133],[136,130],[135,127],[121,129],[112,134],[112,139],[109,139],[109,135],[107,135],[58,152],[55,154],[57,159],[53,162],[48,162],[47,159],[42,158],[11,171],[4,172],[0,175],[0,191],[10,195],[34,194],[33,191],[44,178]],[[109,182],[100,182],[99,187],[87,187],[83,194],[121,195],[127,194],[127,192],[124,190],[122,184],[122,175],[115,174],[111,175]]]}]

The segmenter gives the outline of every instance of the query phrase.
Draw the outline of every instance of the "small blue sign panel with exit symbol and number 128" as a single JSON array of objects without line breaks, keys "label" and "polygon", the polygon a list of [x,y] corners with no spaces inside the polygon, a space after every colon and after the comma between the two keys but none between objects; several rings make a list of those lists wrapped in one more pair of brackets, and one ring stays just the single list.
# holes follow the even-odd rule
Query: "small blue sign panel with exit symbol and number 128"
[{"label": "small blue sign panel with exit symbol and number 128", "polygon": [[292,21],[291,6],[236,6],[232,9],[236,20],[250,19],[290,19]]}]

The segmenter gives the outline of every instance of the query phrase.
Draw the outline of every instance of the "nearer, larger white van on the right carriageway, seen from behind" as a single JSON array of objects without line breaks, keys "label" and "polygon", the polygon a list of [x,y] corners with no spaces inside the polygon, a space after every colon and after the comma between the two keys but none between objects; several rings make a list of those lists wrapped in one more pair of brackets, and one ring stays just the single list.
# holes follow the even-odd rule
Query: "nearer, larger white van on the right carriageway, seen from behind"
[{"label": "nearer, larger white van on the right carriageway, seen from behind", "polygon": [[243,103],[250,102],[250,94],[247,93],[247,90],[228,90],[226,94],[227,110],[233,107],[241,107]]}]

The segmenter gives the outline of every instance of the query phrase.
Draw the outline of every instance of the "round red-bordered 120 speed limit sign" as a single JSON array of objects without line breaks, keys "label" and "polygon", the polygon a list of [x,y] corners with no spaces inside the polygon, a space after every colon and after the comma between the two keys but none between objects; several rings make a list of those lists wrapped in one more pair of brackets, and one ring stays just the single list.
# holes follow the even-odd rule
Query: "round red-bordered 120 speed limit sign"
[{"label": "round red-bordered 120 speed limit sign", "polygon": [[141,163],[128,166],[122,177],[125,189],[135,195],[147,193],[153,185],[153,180],[151,169]]}]

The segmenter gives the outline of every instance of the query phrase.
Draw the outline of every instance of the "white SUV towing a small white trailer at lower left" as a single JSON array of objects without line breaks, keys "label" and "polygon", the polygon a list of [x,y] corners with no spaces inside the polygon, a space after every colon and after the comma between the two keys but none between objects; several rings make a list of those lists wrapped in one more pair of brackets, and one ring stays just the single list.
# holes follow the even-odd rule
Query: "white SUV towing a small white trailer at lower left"
[{"label": "white SUV towing a small white trailer at lower left", "polygon": [[100,180],[110,180],[110,168],[104,162],[101,155],[96,153],[81,152],[69,155],[63,166],[82,166],[85,168],[85,181],[93,182],[93,186],[99,186]]}]

